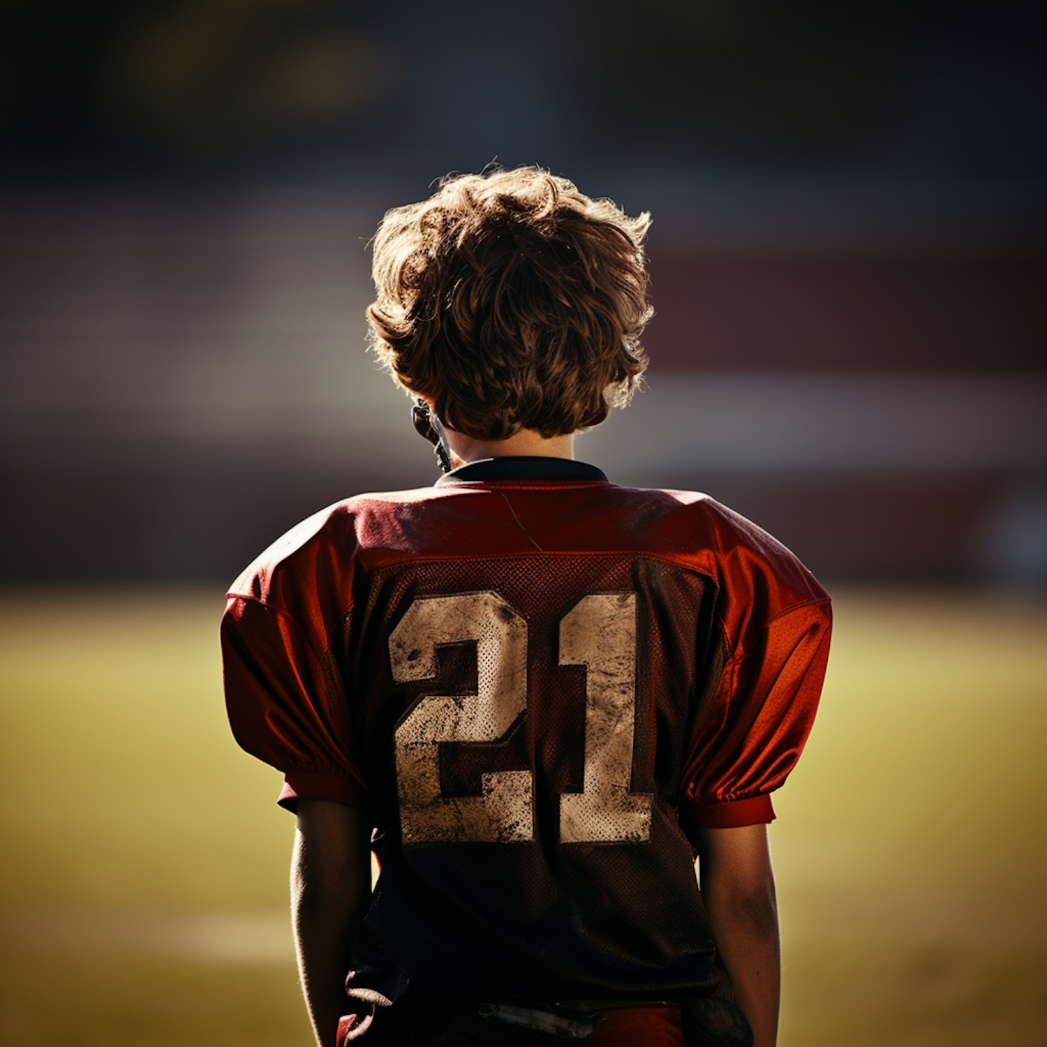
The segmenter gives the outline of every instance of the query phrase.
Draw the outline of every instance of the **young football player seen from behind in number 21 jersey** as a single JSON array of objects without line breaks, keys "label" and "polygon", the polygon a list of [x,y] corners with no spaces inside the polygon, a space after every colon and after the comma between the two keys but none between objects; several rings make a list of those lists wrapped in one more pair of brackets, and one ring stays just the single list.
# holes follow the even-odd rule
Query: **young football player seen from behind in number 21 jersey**
[{"label": "young football player seen from behind in number 21 jersey", "polygon": [[320,1047],[775,1043],[770,794],[829,602],[711,498],[574,461],[645,367],[648,224],[536,168],[389,211],[374,346],[449,471],[322,510],[229,591]]}]

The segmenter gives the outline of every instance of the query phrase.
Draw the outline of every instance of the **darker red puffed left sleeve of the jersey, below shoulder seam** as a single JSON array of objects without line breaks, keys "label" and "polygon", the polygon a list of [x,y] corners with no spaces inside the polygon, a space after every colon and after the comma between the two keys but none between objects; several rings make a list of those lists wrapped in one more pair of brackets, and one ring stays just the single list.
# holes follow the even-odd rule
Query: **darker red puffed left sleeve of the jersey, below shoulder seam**
[{"label": "darker red puffed left sleeve of the jersey, below shoulder seam", "polygon": [[230,596],[222,620],[225,703],[248,753],[284,772],[279,802],[299,798],[358,806],[364,783],[353,759],[343,681],[286,610]]}]

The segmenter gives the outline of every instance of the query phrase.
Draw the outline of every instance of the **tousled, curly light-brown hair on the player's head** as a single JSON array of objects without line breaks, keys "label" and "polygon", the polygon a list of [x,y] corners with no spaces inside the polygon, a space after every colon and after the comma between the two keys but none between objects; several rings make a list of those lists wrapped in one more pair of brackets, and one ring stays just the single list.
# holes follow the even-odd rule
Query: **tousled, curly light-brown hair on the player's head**
[{"label": "tousled, curly light-brown hair on the player's head", "polygon": [[374,348],[474,439],[597,425],[646,367],[649,224],[539,168],[449,176],[378,228]]}]

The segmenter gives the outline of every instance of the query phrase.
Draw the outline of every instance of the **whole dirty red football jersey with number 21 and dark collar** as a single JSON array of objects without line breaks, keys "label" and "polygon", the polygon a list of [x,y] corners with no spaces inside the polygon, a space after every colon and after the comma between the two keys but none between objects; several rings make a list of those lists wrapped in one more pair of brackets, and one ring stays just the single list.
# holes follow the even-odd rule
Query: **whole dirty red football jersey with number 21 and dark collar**
[{"label": "whole dirty red football jersey with number 21 and dark collar", "polygon": [[237,740],[364,807],[353,987],[391,1000],[730,997],[694,825],[770,821],[829,601],[701,494],[498,459],[305,520],[232,586]]}]

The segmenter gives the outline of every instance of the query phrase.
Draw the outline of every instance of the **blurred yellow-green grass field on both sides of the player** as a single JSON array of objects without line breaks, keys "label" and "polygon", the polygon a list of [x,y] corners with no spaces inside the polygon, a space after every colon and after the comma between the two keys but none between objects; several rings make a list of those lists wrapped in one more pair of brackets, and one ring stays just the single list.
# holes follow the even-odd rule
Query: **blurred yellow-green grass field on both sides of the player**
[{"label": "blurred yellow-green grass field on both sides of the player", "polygon": [[[307,1047],[214,595],[0,599],[3,1047]],[[1047,605],[845,593],[776,799],[781,1047],[1047,1043]]]}]

